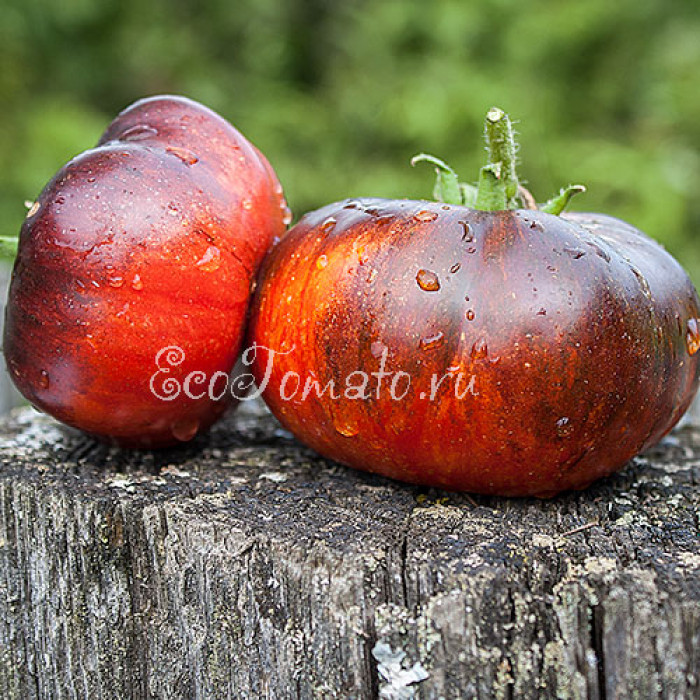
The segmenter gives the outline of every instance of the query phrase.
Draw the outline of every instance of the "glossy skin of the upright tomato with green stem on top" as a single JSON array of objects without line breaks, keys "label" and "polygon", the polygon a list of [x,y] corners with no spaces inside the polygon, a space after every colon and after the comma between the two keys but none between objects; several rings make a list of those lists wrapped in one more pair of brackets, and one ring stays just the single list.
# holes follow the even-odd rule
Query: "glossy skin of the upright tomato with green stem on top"
[{"label": "glossy skin of the upright tomato with green stem on top", "polygon": [[[305,216],[267,256],[248,346],[279,353],[258,351],[253,374],[322,455],[547,497],[621,468],[681,417],[700,377],[686,346],[699,304],[670,255],[611,217],[356,200]],[[384,349],[394,375],[378,391]],[[358,371],[364,399],[345,393]],[[411,382],[397,399],[399,371]],[[448,377],[431,400],[431,377],[459,372],[462,398]],[[295,374],[326,392],[289,398]]]}]

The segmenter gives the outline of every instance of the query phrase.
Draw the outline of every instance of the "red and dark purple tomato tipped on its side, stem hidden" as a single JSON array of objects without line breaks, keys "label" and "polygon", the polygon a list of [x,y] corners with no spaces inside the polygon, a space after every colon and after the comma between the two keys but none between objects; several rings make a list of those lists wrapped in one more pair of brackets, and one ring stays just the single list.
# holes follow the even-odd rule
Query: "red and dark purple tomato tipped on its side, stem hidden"
[{"label": "red and dark purple tomato tipped on its side, stem hidden", "polygon": [[184,354],[159,381],[232,369],[255,273],[286,216],[264,156],[214,112],[171,96],[127,108],[22,226],[4,332],[18,388],[120,445],[192,438],[230,400],[159,398],[156,357]]}]

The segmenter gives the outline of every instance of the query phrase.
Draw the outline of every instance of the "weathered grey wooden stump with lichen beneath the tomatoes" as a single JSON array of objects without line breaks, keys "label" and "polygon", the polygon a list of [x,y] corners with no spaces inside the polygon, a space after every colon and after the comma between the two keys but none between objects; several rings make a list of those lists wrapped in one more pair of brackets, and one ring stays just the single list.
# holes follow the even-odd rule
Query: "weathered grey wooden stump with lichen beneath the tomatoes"
[{"label": "weathered grey wooden stump with lichen beneath the tomatoes", "polygon": [[697,698],[699,480],[687,423],[541,502],[332,465],[250,408],[140,454],[20,411],[0,697]]}]

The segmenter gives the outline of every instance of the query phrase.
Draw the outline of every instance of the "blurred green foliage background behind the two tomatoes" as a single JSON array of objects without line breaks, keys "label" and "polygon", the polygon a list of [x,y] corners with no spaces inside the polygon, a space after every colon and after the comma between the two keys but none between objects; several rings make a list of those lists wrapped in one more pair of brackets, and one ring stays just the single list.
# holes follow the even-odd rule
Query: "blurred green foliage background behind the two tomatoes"
[{"label": "blurred green foliage background behind the two tomatoes", "polygon": [[1,233],[120,109],[162,92],[233,122],[297,217],[428,197],[419,151],[475,179],[498,105],[540,200],[586,184],[575,208],[637,225],[700,282],[697,0],[4,0]]}]

